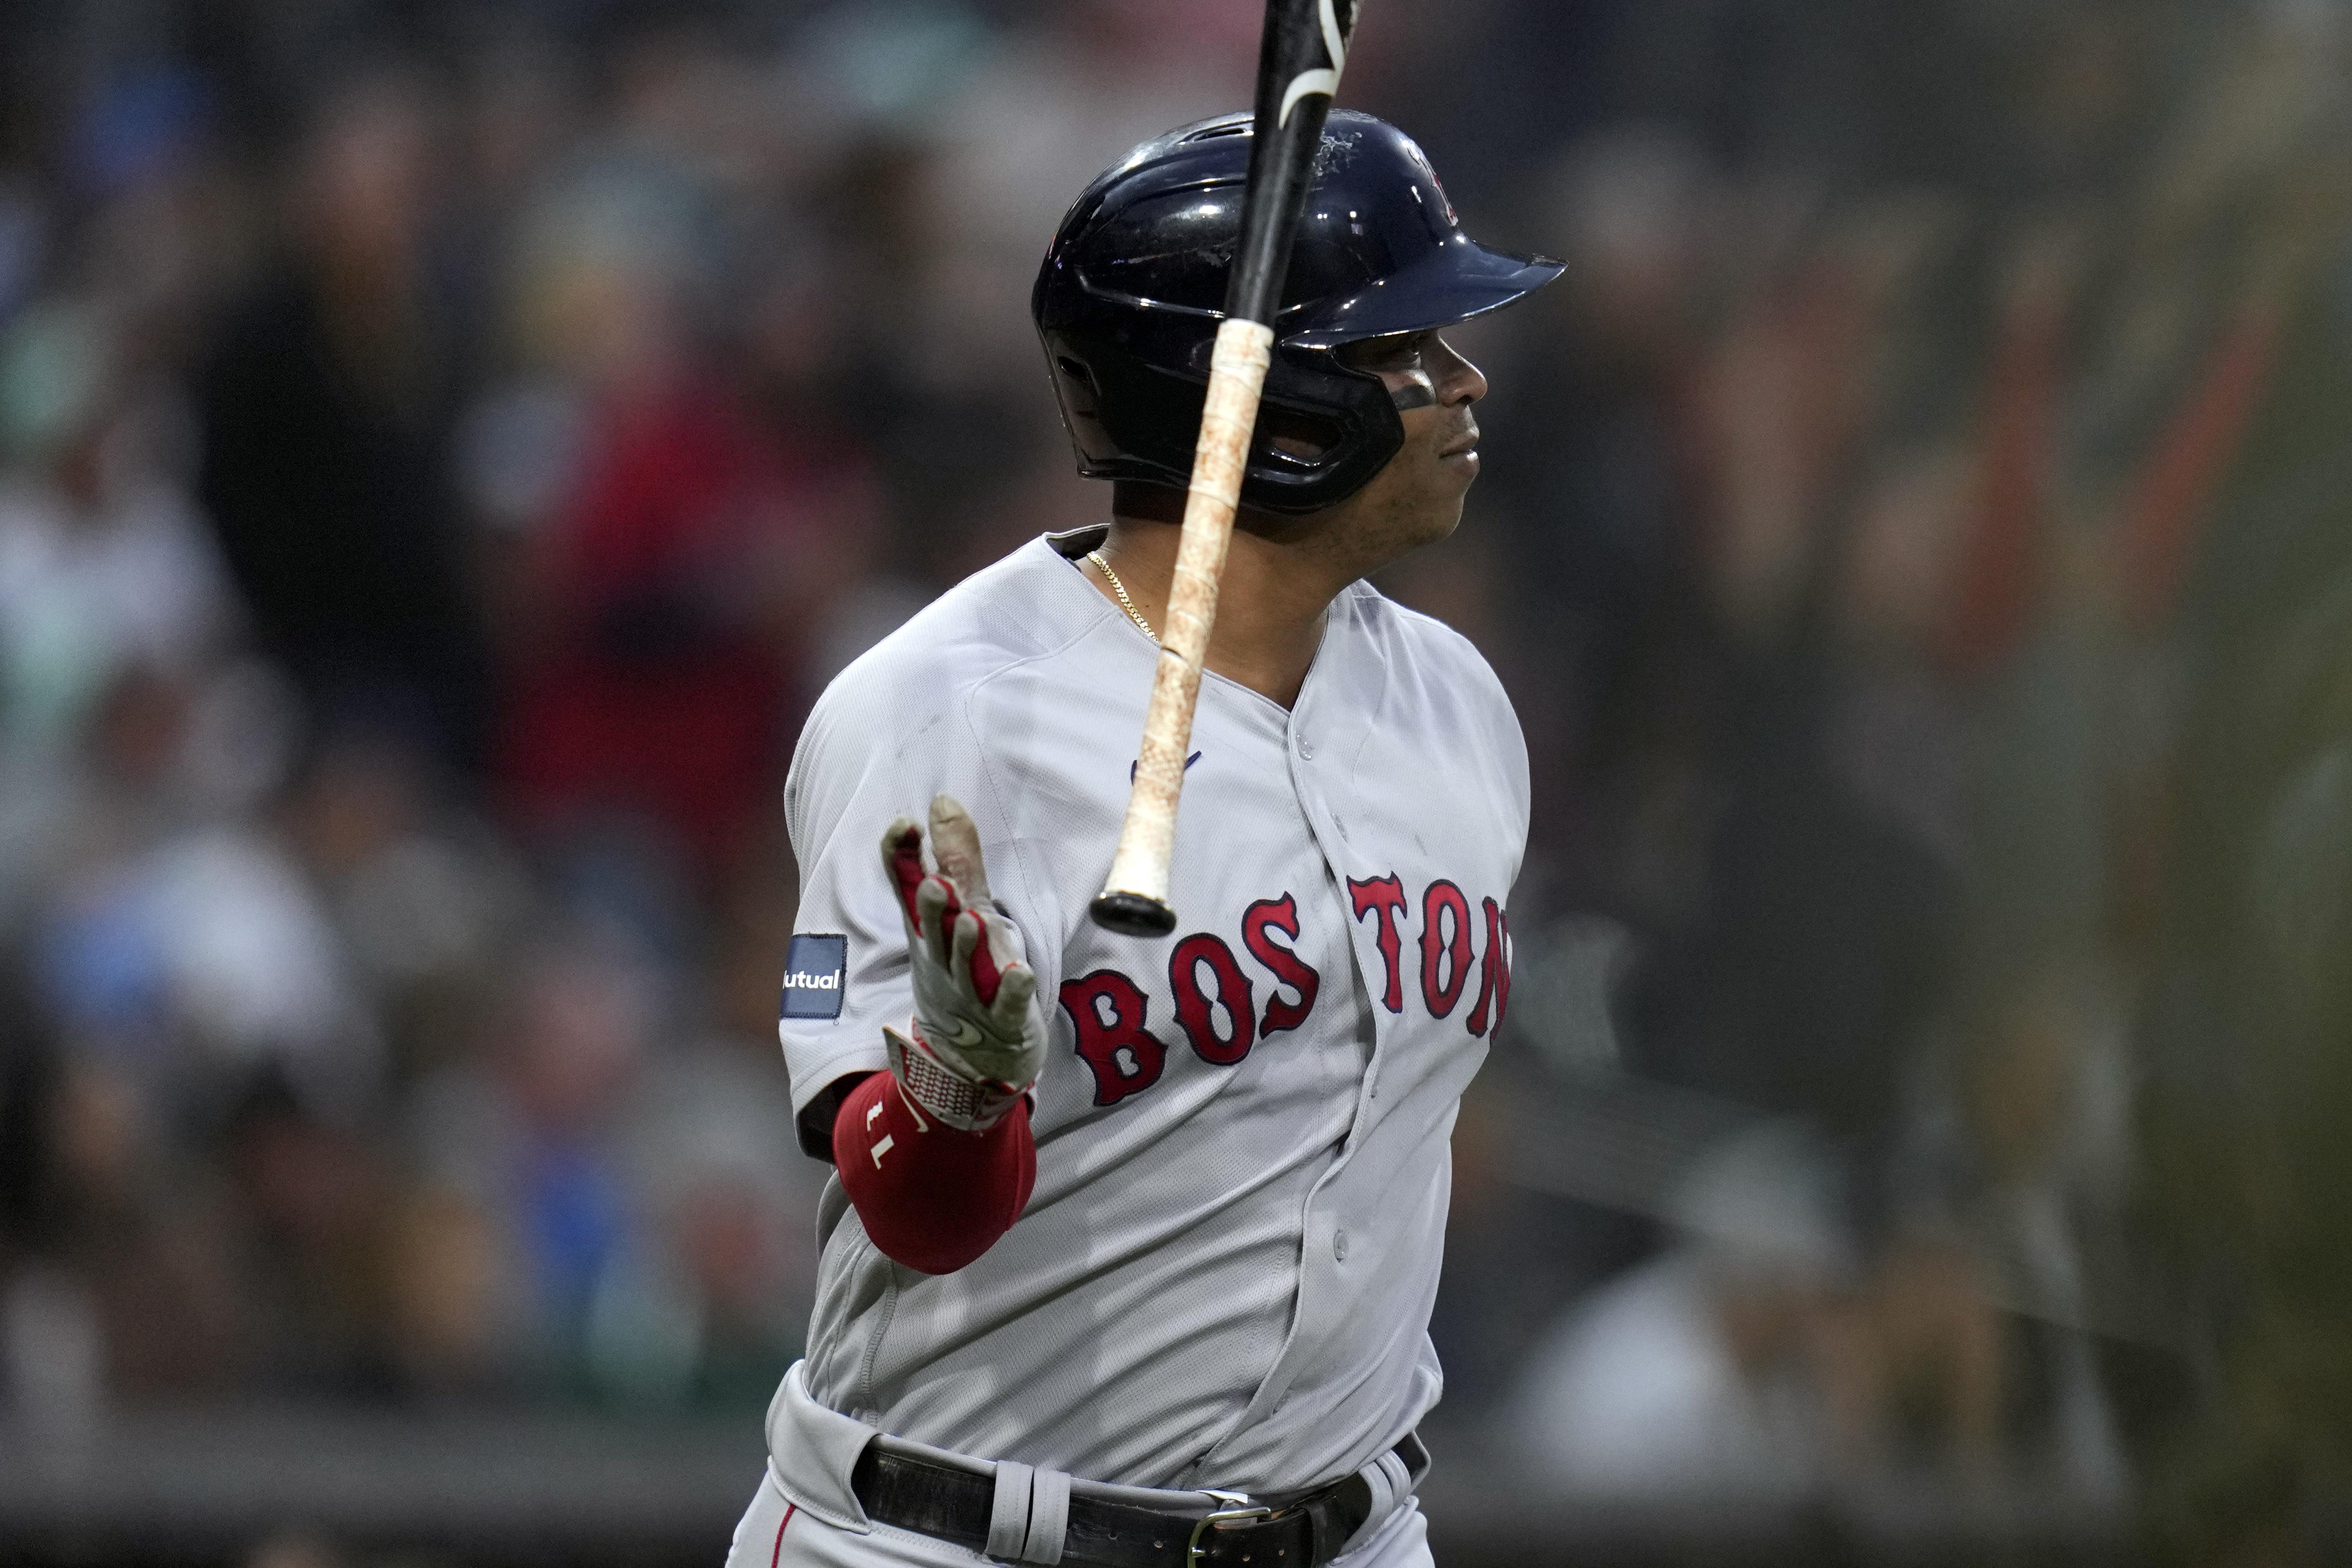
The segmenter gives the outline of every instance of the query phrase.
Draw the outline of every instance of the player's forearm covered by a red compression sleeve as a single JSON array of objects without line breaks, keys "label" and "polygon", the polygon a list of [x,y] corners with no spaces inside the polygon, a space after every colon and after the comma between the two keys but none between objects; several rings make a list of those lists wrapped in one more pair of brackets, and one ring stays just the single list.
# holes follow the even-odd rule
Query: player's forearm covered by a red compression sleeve
[{"label": "player's forearm covered by a red compression sleeve", "polygon": [[833,1164],[891,1260],[953,1274],[997,1244],[1037,1180],[1028,1105],[967,1133],[922,1114],[898,1081],[877,1072],[849,1091],[833,1119]]}]

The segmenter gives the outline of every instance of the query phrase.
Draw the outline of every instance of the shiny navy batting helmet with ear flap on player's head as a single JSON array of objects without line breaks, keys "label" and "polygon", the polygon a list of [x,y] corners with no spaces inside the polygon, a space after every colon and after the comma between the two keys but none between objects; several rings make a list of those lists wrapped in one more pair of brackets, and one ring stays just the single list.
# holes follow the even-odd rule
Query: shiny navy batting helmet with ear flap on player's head
[{"label": "shiny navy batting helmet with ear flap on player's head", "polygon": [[[1249,115],[1218,115],[1145,141],[1087,186],[1037,270],[1030,310],[1089,480],[1192,477],[1249,136]],[[1362,489],[1404,444],[1388,388],[1336,348],[1482,315],[1559,270],[1470,240],[1411,136],[1331,110],[1272,322],[1242,503],[1312,512]]]}]

